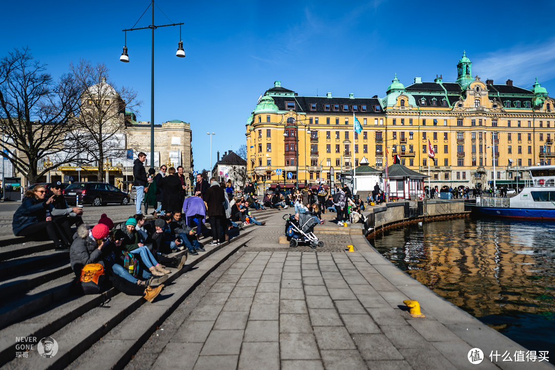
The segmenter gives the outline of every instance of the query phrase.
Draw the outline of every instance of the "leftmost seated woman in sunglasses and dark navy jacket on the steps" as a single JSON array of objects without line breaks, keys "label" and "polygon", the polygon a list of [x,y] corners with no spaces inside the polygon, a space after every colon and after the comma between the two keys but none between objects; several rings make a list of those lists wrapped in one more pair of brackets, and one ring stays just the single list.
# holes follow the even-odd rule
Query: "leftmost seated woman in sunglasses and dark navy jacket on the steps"
[{"label": "leftmost seated woman in sunglasses and dark navy jacket on the steps", "polygon": [[56,249],[68,249],[69,241],[64,240],[65,236],[58,225],[52,221],[53,201],[54,196],[46,197],[46,188],[43,185],[29,189],[23,197],[21,206],[13,214],[14,235],[37,237],[44,235],[46,231]]}]

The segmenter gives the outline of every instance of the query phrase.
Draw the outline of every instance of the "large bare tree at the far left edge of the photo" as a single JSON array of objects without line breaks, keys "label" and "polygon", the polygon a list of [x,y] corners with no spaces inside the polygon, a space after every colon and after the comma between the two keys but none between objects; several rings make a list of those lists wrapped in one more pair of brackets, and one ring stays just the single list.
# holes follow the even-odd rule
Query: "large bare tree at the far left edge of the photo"
[{"label": "large bare tree at the far left edge of the photo", "polygon": [[[64,148],[64,140],[75,126],[79,87],[71,74],[54,81],[45,71],[46,64],[35,61],[28,48],[14,49],[0,61],[0,154],[29,183],[77,155]],[[47,156],[54,163],[39,172],[39,161]]]}]

